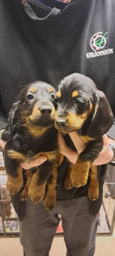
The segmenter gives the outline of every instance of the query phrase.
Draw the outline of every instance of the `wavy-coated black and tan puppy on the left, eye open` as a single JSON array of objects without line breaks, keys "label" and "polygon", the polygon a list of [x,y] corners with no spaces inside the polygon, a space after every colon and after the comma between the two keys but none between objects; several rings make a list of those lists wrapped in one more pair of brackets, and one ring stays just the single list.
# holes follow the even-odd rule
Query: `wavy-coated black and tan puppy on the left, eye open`
[{"label": "wavy-coated black and tan puppy on the left, eye open", "polygon": [[18,101],[11,108],[9,123],[2,134],[2,140],[7,141],[4,162],[8,177],[7,188],[12,195],[23,186],[19,163],[29,163],[38,156],[47,156],[48,160],[36,172],[33,169],[25,171],[27,183],[21,200],[28,195],[35,203],[42,200],[46,182],[50,178],[45,199],[46,207],[50,210],[55,205],[57,176],[57,130],[54,128],[53,98],[54,88],[47,83],[37,81],[24,87]]}]

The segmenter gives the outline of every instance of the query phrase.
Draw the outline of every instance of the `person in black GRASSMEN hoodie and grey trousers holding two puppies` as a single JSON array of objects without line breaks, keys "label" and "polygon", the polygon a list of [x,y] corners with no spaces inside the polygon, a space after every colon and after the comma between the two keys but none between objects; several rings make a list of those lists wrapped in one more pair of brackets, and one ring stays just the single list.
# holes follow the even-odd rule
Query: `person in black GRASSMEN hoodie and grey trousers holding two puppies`
[{"label": "person in black GRASSMEN hoodie and grey trousers holding two puppies", "polygon": [[[98,3],[97,3],[98,2]],[[57,90],[59,82],[72,73],[90,77],[103,91],[115,115],[115,72],[113,54],[114,1],[93,0],[2,0],[0,58],[0,137],[7,125],[7,114],[23,86],[44,81]],[[101,15],[100,15],[101,12]],[[105,15],[106,13],[106,15]],[[88,85],[87,85],[88,86]],[[115,138],[114,124],[109,136]],[[59,152],[73,164],[85,143],[79,134],[70,132],[77,151],[58,133]],[[57,202],[48,212],[41,201],[20,201],[19,193],[12,203],[20,220],[20,242],[26,256],[48,256],[61,214],[67,256],[93,256],[98,212],[102,203],[107,163],[114,161],[114,140],[104,134],[104,146],[93,162],[100,165],[99,197],[88,199],[88,184],[66,190],[66,160],[59,167]],[[4,142],[0,140],[4,149]],[[30,169],[47,161],[40,156],[21,167]]]}]

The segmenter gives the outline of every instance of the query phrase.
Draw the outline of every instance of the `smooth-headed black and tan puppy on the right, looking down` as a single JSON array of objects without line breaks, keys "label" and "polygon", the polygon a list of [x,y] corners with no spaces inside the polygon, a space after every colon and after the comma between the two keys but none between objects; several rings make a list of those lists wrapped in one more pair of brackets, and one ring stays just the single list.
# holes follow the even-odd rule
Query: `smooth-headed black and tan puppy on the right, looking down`
[{"label": "smooth-headed black and tan puppy on the right, looking down", "polygon": [[[98,197],[97,166],[92,165],[103,148],[103,135],[110,129],[113,115],[103,92],[87,76],[74,73],[59,84],[55,127],[64,133],[78,130],[86,144],[75,165],[68,168],[65,188],[84,186],[91,167],[88,196]],[[66,136],[65,136],[66,137]]]}]

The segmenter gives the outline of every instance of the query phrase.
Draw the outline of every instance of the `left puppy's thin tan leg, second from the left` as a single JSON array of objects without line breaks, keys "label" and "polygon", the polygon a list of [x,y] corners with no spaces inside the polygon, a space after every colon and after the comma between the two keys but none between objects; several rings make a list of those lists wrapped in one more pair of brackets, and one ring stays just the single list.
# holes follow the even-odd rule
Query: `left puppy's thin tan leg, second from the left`
[{"label": "left puppy's thin tan leg, second from the left", "polygon": [[27,183],[26,183],[26,187],[24,188],[24,190],[22,191],[22,193],[20,195],[21,201],[24,201],[28,198],[28,189],[29,189],[29,185],[31,183],[32,176],[33,176],[31,169],[26,171],[26,175],[27,175]]}]

